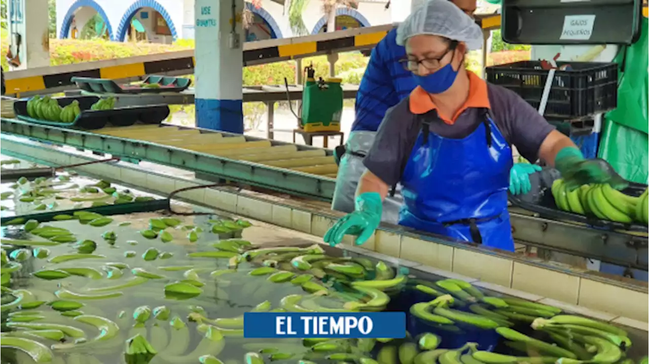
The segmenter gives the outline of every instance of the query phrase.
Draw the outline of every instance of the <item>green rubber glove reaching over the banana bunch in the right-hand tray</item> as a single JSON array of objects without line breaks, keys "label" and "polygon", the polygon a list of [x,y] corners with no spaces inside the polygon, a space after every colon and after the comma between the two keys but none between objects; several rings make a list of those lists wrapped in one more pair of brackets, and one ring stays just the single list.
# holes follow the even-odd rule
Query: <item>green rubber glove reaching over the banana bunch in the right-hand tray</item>
[{"label": "green rubber glove reaching over the banana bunch in the right-hand tray", "polygon": [[584,184],[606,183],[615,189],[624,189],[629,185],[606,160],[585,159],[575,147],[561,149],[554,160],[554,166],[561,172],[561,178],[569,191]]}]

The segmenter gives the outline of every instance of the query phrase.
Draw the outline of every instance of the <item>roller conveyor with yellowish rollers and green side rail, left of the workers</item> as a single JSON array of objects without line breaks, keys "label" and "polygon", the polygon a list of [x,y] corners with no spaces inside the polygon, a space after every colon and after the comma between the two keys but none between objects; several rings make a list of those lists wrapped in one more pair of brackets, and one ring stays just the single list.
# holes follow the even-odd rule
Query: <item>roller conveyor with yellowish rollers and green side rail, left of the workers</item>
[{"label": "roller conveyor with yellowish rollers and green side rail, left of the workers", "polygon": [[0,132],[188,169],[311,199],[331,200],[336,184],[332,151],[240,134],[171,125],[90,132],[18,119],[0,119]]}]

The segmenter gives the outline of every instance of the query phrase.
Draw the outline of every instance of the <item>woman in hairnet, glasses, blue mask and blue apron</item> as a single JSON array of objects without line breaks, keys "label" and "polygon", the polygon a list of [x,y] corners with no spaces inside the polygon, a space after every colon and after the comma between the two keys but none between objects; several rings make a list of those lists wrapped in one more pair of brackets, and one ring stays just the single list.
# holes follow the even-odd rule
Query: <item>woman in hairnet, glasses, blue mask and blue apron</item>
[{"label": "woman in hairnet, glasses, blue mask and blue apron", "polygon": [[610,180],[608,169],[585,160],[530,104],[465,69],[482,30],[457,6],[428,1],[399,25],[397,43],[406,46],[402,63],[418,86],[388,110],[363,160],[355,210],[326,233],[330,245],[345,234],[364,243],[380,223],[382,200],[400,183],[399,224],[513,251],[510,145],[527,160],[554,165],[569,183]]}]

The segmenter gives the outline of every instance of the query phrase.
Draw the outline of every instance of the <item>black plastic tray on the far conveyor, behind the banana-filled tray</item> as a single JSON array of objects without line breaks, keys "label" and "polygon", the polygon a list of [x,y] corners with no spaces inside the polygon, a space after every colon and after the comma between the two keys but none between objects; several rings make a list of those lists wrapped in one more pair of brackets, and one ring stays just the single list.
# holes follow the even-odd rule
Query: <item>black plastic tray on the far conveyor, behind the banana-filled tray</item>
[{"label": "black plastic tray on the far conveyor, behind the banana-filled tray", "polygon": [[138,85],[122,84],[119,85],[114,80],[93,79],[90,77],[72,77],[72,82],[77,84],[81,90],[92,93],[161,93],[161,92],[181,92],[190,87],[191,79],[184,77],[169,77],[148,75],[143,84],[159,84],[160,88],[143,88]]}]

